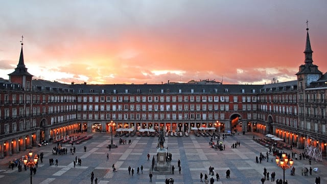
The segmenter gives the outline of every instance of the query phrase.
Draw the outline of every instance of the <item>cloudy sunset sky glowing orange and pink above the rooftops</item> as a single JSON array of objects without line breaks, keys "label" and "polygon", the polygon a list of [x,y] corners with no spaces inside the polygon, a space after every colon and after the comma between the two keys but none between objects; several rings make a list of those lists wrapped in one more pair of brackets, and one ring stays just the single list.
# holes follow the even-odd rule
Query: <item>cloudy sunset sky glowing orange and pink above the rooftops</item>
[{"label": "cloudy sunset sky glowing orange and pink above the rooftops", "polygon": [[327,1],[4,1],[0,78],[24,60],[34,79],[70,84],[296,80],[308,20],[327,71]]}]

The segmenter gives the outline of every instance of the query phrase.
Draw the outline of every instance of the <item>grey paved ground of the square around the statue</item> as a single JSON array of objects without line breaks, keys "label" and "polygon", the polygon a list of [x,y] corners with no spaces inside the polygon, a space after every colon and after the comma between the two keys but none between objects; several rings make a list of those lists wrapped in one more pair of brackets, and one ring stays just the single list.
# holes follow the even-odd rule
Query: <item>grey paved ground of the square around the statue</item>
[{"label": "grey paved ground of the square around the statue", "polygon": [[[64,144],[63,147],[68,148],[67,155],[52,154],[52,148],[56,144],[33,148],[33,153],[44,153],[43,163],[38,164],[37,172],[33,175],[33,183],[91,183],[91,172],[94,172],[95,178],[98,178],[99,184],[105,183],[147,183],[149,182],[149,168],[151,159],[148,161],[147,154],[150,153],[151,158],[156,155],[158,137],[122,137],[131,140],[132,144],[119,145],[118,148],[109,151],[106,146],[110,144],[111,136],[107,133],[83,133],[83,135],[92,135],[93,138],[76,146],[76,153],[70,154],[71,145]],[[226,146],[224,151],[219,151],[209,147],[210,137],[196,137],[191,134],[189,137],[165,137],[165,147],[168,152],[172,153],[172,165],[175,166],[175,174],[153,175],[153,183],[165,183],[166,178],[173,178],[175,184],[179,183],[201,183],[200,172],[208,174],[209,166],[215,168],[220,175],[220,180],[215,183],[261,183],[264,168],[269,173],[275,172],[276,179],[283,178],[283,170],[276,166],[272,155],[269,162],[264,160],[262,164],[255,163],[255,156],[259,156],[260,152],[264,155],[268,151],[267,148],[259,145],[252,140],[260,136],[255,133],[236,134],[235,136],[227,136],[224,140]],[[262,136],[262,135],[261,135]],[[222,137],[222,136],[221,136]],[[113,142],[118,143],[120,137],[113,137]],[[240,142],[241,146],[232,149],[233,143]],[[86,152],[83,147],[86,146]],[[13,170],[8,168],[9,160],[19,158],[28,154],[29,150],[5,157],[0,160],[0,183],[30,183],[30,172],[18,172],[17,167]],[[302,151],[302,150],[295,150]],[[286,150],[290,153],[289,150]],[[109,159],[107,160],[107,153]],[[82,159],[81,166],[76,165],[74,168],[73,161],[75,157]],[[49,158],[58,159],[58,166],[50,166]],[[273,162],[271,163],[271,158]],[[181,174],[178,173],[177,160],[181,161]],[[118,172],[112,172],[112,164],[118,168]],[[137,167],[143,165],[143,174],[136,174]],[[134,168],[134,175],[128,174],[128,167]],[[320,176],[321,183],[327,183],[326,160],[316,163],[312,161],[309,165],[308,159],[294,160],[295,176],[290,175],[290,170],[286,170],[285,177],[288,183],[315,183],[315,178]],[[302,176],[301,168],[318,167],[318,172],[312,172],[312,175]],[[230,169],[230,178],[226,178],[226,170]],[[95,183],[95,182],[94,182]],[[276,183],[275,181],[265,181],[265,183]]]}]

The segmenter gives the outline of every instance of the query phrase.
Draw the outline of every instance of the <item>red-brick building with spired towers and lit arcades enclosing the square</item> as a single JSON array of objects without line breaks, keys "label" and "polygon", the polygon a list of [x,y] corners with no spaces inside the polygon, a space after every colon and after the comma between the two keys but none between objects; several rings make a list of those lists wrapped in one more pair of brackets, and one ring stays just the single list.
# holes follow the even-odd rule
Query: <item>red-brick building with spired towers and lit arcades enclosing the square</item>
[{"label": "red-brick building with spired towers and lit arcades enclosing the square", "polygon": [[[308,30],[307,30],[308,31]],[[17,68],[0,79],[0,157],[76,132],[132,128],[273,134],[326,155],[327,76],[313,64],[307,32],[297,80],[264,85],[203,80],[165,84],[63,84],[32,80],[21,45]]]}]

